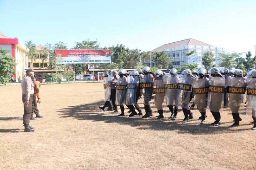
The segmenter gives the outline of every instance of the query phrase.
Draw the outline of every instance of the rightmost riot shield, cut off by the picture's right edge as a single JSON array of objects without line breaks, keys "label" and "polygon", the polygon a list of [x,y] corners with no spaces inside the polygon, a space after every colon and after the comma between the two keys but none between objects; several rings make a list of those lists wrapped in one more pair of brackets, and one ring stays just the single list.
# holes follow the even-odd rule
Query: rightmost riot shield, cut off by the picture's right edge
[{"label": "rightmost riot shield, cut off by the picture's right edge", "polygon": [[247,79],[246,114],[256,116],[256,78]]}]

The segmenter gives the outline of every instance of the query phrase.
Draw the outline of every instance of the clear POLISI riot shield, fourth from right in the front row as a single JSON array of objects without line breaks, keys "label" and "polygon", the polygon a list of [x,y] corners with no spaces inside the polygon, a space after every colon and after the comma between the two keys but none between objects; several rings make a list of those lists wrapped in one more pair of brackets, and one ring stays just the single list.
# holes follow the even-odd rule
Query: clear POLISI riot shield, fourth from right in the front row
[{"label": "clear POLISI riot shield, fourth from right in the front row", "polygon": [[209,79],[197,79],[194,84],[195,104],[200,112],[205,112],[208,100]]}]

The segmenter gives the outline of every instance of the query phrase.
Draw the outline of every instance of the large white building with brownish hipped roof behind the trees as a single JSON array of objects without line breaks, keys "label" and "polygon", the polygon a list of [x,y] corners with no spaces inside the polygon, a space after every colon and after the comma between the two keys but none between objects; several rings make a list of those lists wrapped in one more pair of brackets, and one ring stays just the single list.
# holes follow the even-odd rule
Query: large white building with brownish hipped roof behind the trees
[{"label": "large white building with brownish hipped roof behind the trees", "polygon": [[[194,50],[195,53],[191,56],[185,56],[184,53]],[[218,53],[225,53],[224,47],[214,47],[212,45],[197,41],[193,38],[177,41],[157,47],[154,51],[166,51],[168,57],[172,58],[173,68],[180,69],[184,64],[198,64],[198,67],[203,68],[202,57],[206,51],[212,51],[216,58],[215,64],[219,64]]]}]

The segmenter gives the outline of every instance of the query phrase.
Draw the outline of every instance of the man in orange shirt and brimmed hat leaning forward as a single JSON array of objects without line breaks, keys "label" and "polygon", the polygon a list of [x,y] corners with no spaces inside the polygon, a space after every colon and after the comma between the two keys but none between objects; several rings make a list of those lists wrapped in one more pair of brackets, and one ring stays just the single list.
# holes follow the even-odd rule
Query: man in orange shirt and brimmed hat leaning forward
[{"label": "man in orange shirt and brimmed hat leaning forward", "polygon": [[[45,79],[45,76],[43,74],[40,74],[37,77],[37,81],[34,82],[32,114],[31,114],[30,120],[33,120],[33,113],[35,113],[36,118],[43,118],[43,116],[39,114],[39,110],[37,108],[37,103],[39,103],[39,104],[41,103],[40,87],[41,87],[41,83],[43,82],[43,79]],[[38,99],[38,101],[37,101],[37,99]]]}]

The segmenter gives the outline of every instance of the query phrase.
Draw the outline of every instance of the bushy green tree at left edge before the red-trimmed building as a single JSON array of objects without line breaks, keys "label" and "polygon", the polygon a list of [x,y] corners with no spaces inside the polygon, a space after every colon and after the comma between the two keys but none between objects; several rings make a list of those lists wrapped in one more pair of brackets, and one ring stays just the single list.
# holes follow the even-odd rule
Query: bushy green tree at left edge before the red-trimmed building
[{"label": "bushy green tree at left edge before the red-trimmed building", "polygon": [[15,59],[8,55],[10,50],[0,49],[0,84],[6,84],[11,79],[13,79],[12,74],[16,74],[16,69],[14,65],[16,65]]}]

